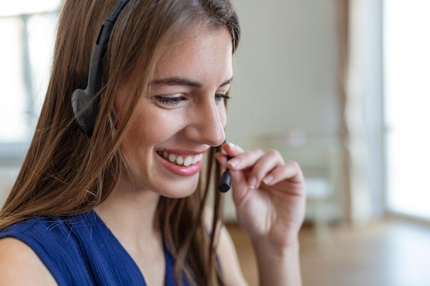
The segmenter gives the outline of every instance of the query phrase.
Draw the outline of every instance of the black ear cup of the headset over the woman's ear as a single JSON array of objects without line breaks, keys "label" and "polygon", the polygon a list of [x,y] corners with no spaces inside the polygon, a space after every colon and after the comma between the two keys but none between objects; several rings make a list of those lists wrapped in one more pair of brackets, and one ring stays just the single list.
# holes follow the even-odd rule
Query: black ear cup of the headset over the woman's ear
[{"label": "black ear cup of the headset over the woman's ear", "polygon": [[76,89],[71,94],[71,106],[78,127],[87,136],[91,137],[97,114],[98,99],[95,99],[89,90],[87,80],[78,82]]}]

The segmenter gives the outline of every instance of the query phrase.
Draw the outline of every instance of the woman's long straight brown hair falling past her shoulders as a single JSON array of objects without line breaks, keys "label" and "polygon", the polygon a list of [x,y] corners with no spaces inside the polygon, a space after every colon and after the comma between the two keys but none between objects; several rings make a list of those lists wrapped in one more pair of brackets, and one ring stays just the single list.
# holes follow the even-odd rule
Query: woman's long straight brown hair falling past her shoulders
[{"label": "woman's long straight brown hair falling past her shoulders", "polygon": [[[91,139],[74,122],[71,93],[88,77],[91,51],[114,0],[65,0],[60,14],[52,76],[45,102],[16,182],[0,211],[0,229],[34,216],[76,215],[103,202],[125,166],[121,143],[139,96],[147,91],[155,64],[172,37],[196,24],[231,32],[233,53],[240,37],[229,0],[130,0],[113,27],[103,62],[98,119]],[[126,83],[128,115],[118,121],[114,97]],[[214,219],[205,227],[203,210],[219,178],[216,148],[207,154],[199,189],[188,198],[161,198],[157,208],[166,245],[181,273],[194,285],[223,285],[216,263],[222,198],[214,192]]]}]

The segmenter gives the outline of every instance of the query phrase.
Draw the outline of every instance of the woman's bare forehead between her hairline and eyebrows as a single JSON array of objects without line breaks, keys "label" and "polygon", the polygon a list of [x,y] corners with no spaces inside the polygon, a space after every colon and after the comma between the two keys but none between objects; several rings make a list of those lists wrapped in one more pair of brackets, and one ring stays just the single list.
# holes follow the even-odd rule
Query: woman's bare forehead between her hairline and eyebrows
[{"label": "woman's bare forehead between her hairline and eyebrows", "polygon": [[198,26],[174,36],[163,47],[155,68],[155,79],[185,76],[207,82],[232,76],[232,41],[229,29]]}]

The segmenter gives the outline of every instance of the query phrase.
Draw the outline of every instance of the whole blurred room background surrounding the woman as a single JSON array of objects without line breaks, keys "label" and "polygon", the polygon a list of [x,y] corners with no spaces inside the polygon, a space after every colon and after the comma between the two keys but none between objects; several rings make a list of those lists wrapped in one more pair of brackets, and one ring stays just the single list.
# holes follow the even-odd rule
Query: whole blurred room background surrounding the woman
[{"label": "whole blurred room background surrounding the woman", "polygon": [[[32,138],[62,0],[0,0],[0,204]],[[430,285],[430,1],[234,0],[227,138],[302,165],[304,285]],[[256,265],[225,217],[250,285]]]}]

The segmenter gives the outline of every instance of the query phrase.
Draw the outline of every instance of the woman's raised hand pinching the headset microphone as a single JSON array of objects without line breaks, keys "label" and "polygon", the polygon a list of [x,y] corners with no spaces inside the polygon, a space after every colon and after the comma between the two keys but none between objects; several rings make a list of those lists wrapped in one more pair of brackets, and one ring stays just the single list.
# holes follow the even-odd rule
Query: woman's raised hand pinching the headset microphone
[{"label": "woman's raised hand pinching the headset microphone", "polygon": [[[238,223],[251,240],[283,250],[297,243],[304,219],[305,186],[295,162],[284,162],[279,152],[244,151],[223,145],[216,158],[231,171]],[[227,156],[231,158],[227,160]]]}]

